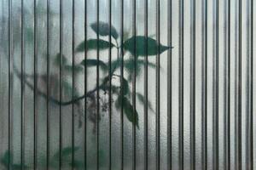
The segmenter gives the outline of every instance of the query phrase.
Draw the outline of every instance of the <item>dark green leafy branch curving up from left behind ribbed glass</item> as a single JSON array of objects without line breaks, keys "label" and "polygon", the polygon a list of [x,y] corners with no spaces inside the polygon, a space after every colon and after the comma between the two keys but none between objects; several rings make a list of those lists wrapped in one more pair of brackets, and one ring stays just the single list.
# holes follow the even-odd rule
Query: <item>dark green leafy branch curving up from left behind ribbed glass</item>
[{"label": "dark green leafy branch curving up from left behind ribbed glass", "polygon": [[[90,98],[92,102],[95,102],[96,99],[96,91],[102,90],[104,94],[108,94],[108,89],[112,89],[113,96],[116,96],[115,99],[115,107],[117,110],[123,109],[125,116],[130,122],[133,122],[138,126],[138,113],[136,110],[134,110],[133,105],[131,104],[130,96],[131,96],[131,89],[130,89],[130,83],[132,80],[132,77],[134,75],[134,71],[136,76],[139,76],[141,71],[143,70],[143,66],[145,65],[145,59],[142,59],[145,56],[155,56],[157,54],[161,54],[165,52],[170,47],[164,46],[160,43],[158,43],[156,40],[154,40],[151,37],[143,37],[143,36],[136,36],[136,37],[127,37],[125,42],[119,44],[118,38],[119,34],[118,31],[113,27],[109,26],[108,23],[100,21],[99,23],[93,23],[90,25],[91,29],[95,31],[95,33],[98,33],[100,37],[112,37],[116,44],[113,44],[112,42],[103,40],[101,38],[99,39],[89,39],[85,40],[83,42],[80,42],[78,47],[75,48],[76,53],[84,53],[88,51],[96,51],[96,50],[106,50],[111,48],[117,48],[117,59],[113,59],[110,61],[110,63],[103,61],[102,59],[84,59],[81,63],[78,65],[71,65],[68,64],[67,58],[65,55],[56,54],[53,64],[56,67],[60,67],[63,71],[67,72],[75,72],[80,73],[85,68],[92,68],[92,67],[99,67],[103,72],[108,72],[108,67],[111,65],[111,71],[109,71],[109,75],[104,77],[102,79],[101,84],[99,84],[98,87],[95,87],[86,94],[80,95],[77,92],[76,88],[72,86],[69,82],[63,82],[61,80],[62,88],[64,88],[64,91],[67,92],[67,94],[72,95],[74,92],[73,99],[62,101],[60,99],[55,99],[54,96],[47,96],[43,90],[36,89],[37,94],[43,96],[44,98],[49,99],[50,102],[55,103],[56,105],[72,105],[76,104],[79,105],[79,101],[84,98]],[[136,47],[135,47],[136,44]],[[148,51],[146,51],[146,48]],[[122,50],[121,50],[122,49]],[[121,53],[120,51],[124,51],[123,61],[121,60]],[[127,58],[128,57],[128,58]],[[121,62],[123,65],[121,65]],[[60,65],[61,63],[61,65]],[[135,65],[136,63],[136,65]],[[155,68],[156,65],[154,63],[148,62],[148,67]],[[119,73],[116,73],[120,69],[120,67],[123,66],[125,71],[128,73],[128,77],[122,77]],[[14,66],[15,74],[20,77],[21,74],[18,71],[18,69]],[[113,79],[113,77],[117,77],[120,80],[119,86],[113,86],[109,87],[110,80]],[[28,80],[29,76],[25,75],[25,78],[23,79],[26,86],[34,89],[33,84]],[[47,80],[47,78],[45,79]],[[55,80],[56,81],[56,80]],[[122,96],[121,96],[121,89]],[[153,107],[150,104],[149,101],[146,101],[143,94],[136,94],[137,99],[141,103],[148,102],[148,107],[151,111],[153,111]],[[100,97],[101,98],[101,97]],[[106,109],[105,109],[106,111]]]}]

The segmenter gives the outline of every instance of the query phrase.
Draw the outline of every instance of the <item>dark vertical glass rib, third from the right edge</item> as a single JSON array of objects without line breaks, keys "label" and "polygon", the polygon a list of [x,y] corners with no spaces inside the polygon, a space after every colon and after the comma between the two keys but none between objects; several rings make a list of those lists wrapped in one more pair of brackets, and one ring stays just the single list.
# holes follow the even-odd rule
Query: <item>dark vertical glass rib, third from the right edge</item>
[{"label": "dark vertical glass rib, third from the right edge", "polygon": [[224,72],[224,167],[230,169],[230,0],[225,1],[225,72]]}]

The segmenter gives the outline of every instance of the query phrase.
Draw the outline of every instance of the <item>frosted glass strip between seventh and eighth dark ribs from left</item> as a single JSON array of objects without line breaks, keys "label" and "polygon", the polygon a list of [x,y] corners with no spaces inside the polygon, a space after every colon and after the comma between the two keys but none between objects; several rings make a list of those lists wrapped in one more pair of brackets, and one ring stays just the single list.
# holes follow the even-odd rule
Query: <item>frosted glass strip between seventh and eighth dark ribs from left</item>
[{"label": "frosted glass strip between seventh and eighth dark ribs from left", "polygon": [[[93,31],[90,27],[91,24],[97,22],[97,1],[87,1],[87,40],[96,39],[96,31]],[[97,45],[96,45],[97,47]],[[87,59],[97,59],[96,50],[90,50],[87,52]],[[87,68],[87,91],[96,88],[96,66]],[[86,98],[87,101],[87,168],[96,169],[97,166],[97,103],[96,94],[93,94],[93,98]]]}]

